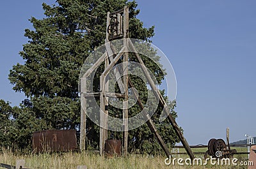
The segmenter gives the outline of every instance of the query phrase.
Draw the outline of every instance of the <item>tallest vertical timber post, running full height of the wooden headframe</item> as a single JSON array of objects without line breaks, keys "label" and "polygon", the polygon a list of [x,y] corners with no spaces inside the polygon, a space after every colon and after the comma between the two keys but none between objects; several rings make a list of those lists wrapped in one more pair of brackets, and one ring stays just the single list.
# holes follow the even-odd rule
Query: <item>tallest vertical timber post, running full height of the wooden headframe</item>
[{"label": "tallest vertical timber post, running full height of the wooden headframe", "polygon": [[[127,38],[129,38],[129,8],[124,8],[124,46],[127,47]],[[128,154],[128,59],[129,53],[124,53],[123,71],[124,71],[124,91],[125,99],[123,102],[123,119],[124,119],[124,156]]]}]

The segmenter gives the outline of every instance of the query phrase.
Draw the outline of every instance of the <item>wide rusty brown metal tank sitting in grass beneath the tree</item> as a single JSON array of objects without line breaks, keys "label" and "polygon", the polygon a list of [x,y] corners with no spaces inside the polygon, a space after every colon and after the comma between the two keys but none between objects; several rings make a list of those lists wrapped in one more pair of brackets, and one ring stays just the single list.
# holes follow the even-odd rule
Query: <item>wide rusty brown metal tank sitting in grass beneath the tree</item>
[{"label": "wide rusty brown metal tank sitting in grass beneath the tree", "polygon": [[33,152],[66,152],[74,150],[77,150],[75,129],[47,129],[33,133]]}]

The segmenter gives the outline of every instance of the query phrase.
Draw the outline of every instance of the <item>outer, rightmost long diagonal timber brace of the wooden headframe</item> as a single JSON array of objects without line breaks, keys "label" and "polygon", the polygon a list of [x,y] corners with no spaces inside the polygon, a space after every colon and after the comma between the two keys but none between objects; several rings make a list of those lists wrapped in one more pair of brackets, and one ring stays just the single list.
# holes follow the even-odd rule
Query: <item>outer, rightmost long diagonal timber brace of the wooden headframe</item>
[{"label": "outer, rightmost long diagonal timber brace of the wooden headframe", "polygon": [[175,133],[177,134],[177,136],[179,137],[180,142],[182,143],[182,145],[184,146],[184,148],[186,149],[186,151],[188,152],[188,155],[191,159],[194,159],[194,154],[191,151],[189,144],[187,142],[187,140],[184,138],[178,124],[176,123],[175,119],[172,117],[172,114],[170,114],[170,110],[168,110],[167,105],[163,99],[163,96],[161,95],[161,93],[159,92],[159,90],[157,89],[156,85],[154,84],[154,81],[152,80],[152,78],[150,77],[150,74],[147,71],[147,68],[145,67],[144,62],[142,61],[140,55],[138,54],[138,52],[136,52],[135,47],[132,44],[132,41],[129,40],[129,47],[132,48],[132,52],[134,52],[136,58],[138,59],[138,61],[141,64],[141,69],[143,70],[143,73],[145,75],[145,77],[148,80],[148,83],[154,93],[154,95],[159,98],[159,102],[161,103],[161,105],[163,106],[163,113],[168,115],[167,118],[168,120],[171,122],[173,129],[175,131]]}]

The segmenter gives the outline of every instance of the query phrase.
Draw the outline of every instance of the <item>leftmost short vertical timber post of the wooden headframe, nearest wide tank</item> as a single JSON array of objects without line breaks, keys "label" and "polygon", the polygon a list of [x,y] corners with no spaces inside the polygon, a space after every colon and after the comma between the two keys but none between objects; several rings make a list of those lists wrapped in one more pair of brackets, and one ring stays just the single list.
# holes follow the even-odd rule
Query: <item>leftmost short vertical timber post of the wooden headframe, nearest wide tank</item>
[{"label": "leftmost short vertical timber post of the wooden headframe, nearest wide tank", "polygon": [[80,124],[80,151],[85,150],[86,142],[86,78],[81,78],[81,124]]}]

